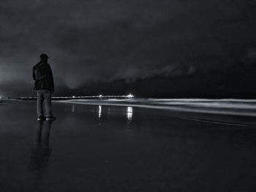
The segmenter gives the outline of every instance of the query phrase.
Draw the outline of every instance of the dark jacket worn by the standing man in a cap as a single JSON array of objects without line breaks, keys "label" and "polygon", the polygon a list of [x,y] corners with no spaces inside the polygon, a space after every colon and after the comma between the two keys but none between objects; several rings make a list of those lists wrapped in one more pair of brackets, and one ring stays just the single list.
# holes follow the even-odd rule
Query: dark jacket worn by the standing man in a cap
[{"label": "dark jacket worn by the standing man in a cap", "polygon": [[47,61],[40,61],[33,66],[33,79],[35,90],[54,91],[53,72]]}]

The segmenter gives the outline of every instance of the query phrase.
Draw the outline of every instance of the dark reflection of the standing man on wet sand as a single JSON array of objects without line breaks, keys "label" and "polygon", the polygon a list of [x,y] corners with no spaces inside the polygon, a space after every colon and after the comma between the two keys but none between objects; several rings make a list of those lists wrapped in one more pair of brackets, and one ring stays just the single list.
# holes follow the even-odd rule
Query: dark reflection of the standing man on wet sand
[{"label": "dark reflection of the standing man on wet sand", "polygon": [[[38,121],[36,145],[31,150],[31,158],[29,162],[30,171],[39,171],[45,169],[50,157],[50,127],[53,121]],[[45,128],[43,128],[45,126]]]}]

